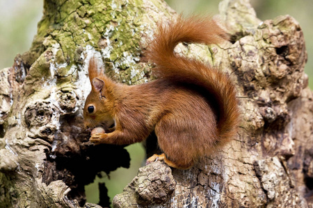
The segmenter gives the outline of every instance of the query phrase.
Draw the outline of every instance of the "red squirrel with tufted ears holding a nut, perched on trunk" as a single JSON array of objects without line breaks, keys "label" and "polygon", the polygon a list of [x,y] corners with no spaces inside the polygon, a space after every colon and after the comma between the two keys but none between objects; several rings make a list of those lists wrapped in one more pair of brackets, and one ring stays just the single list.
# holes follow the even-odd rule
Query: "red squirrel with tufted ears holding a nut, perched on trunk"
[{"label": "red squirrel with tufted ears holding a nut, perched on trunk", "polygon": [[[84,125],[94,128],[90,141],[133,144],[154,131],[163,154],[147,162],[159,159],[182,169],[230,141],[239,122],[230,78],[208,64],[174,53],[179,42],[218,44],[226,34],[211,18],[179,17],[159,24],[144,54],[155,64],[152,73],[157,79],[141,85],[114,82],[92,58],[88,66],[92,90],[83,110]],[[99,126],[105,131],[96,130]]]}]

